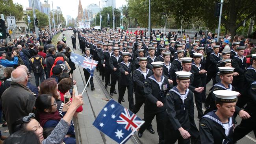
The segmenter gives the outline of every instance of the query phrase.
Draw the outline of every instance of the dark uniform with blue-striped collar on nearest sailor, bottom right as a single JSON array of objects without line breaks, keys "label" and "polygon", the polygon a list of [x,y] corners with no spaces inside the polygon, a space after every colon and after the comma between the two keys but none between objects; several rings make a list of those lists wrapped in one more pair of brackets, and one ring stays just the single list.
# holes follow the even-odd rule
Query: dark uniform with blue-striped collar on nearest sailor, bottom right
[{"label": "dark uniform with blue-striped collar on nearest sailor, bottom right", "polygon": [[228,124],[225,127],[215,114],[216,111],[211,111],[200,119],[199,132],[201,143],[232,144],[234,129],[233,117],[228,118]]}]

